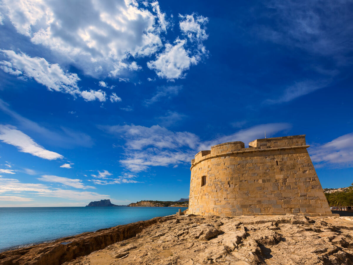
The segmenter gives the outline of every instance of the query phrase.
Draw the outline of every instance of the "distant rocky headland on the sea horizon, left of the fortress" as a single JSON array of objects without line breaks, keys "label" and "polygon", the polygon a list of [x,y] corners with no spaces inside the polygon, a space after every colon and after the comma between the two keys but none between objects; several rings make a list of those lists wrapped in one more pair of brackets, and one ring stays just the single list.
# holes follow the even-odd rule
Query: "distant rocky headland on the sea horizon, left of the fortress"
[{"label": "distant rocky headland on the sea horizon, left of the fortress", "polygon": [[115,205],[110,200],[91,201],[86,207],[188,207],[189,199],[181,198],[178,201],[138,201],[129,205]]}]

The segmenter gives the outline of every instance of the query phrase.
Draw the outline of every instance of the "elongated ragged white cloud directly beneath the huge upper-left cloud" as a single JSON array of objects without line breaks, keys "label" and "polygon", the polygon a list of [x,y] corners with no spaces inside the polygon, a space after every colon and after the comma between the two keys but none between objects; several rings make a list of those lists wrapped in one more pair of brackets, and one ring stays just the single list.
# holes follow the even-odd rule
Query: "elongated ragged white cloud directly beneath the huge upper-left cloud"
[{"label": "elongated ragged white cloud directly beneath the huge upper-left cloud", "polygon": [[58,64],[50,64],[44,58],[30,57],[24,53],[2,50],[9,61],[0,61],[0,69],[22,78],[33,78],[49,90],[81,96],[86,101],[98,99],[106,101],[106,93],[102,90],[81,91],[77,85],[80,78],[76,73],[64,72]]}]

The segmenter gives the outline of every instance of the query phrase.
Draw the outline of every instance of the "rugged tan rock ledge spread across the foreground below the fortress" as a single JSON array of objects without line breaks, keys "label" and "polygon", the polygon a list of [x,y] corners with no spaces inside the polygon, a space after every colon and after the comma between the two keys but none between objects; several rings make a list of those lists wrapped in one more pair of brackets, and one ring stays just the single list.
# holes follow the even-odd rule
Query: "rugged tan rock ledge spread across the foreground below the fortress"
[{"label": "rugged tan rock ledge spread across the foreground below the fortress", "polygon": [[353,264],[352,220],[292,214],[156,217],[3,252],[0,264]]}]

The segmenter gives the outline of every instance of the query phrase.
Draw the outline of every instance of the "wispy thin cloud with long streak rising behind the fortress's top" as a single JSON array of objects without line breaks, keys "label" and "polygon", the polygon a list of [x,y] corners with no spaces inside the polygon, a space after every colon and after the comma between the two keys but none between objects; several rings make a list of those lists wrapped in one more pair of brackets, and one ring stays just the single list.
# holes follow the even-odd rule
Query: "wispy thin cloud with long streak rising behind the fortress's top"
[{"label": "wispy thin cloud with long streak rising behind the fortress's top", "polygon": [[125,140],[125,158],[120,163],[133,172],[145,171],[151,166],[189,164],[198,151],[209,150],[213,145],[232,141],[243,141],[247,144],[263,138],[264,131],[271,136],[290,128],[291,125],[287,123],[260,124],[211,141],[201,141],[193,133],[174,132],[159,125],[101,126],[107,133]]}]

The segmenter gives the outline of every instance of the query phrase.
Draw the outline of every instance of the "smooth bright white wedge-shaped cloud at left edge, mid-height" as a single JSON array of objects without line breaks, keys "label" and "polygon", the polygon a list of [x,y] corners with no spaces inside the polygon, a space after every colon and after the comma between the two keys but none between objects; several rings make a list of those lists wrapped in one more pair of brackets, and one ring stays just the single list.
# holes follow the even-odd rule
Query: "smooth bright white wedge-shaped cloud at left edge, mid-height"
[{"label": "smooth bright white wedge-shaped cloud at left edge, mid-height", "polygon": [[53,160],[63,157],[61,154],[44,149],[31,137],[11,125],[0,125],[0,140],[16,146],[20,152],[29,153],[40,158]]}]

